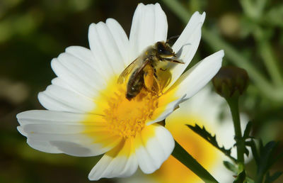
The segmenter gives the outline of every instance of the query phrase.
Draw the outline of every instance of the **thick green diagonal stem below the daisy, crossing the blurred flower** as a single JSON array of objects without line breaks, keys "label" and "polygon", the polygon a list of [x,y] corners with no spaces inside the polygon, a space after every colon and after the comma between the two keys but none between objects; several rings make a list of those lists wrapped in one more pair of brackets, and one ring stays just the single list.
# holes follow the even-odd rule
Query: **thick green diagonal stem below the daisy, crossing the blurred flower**
[{"label": "thick green diagonal stem below the daisy, crossing the blurred flower", "polygon": [[172,155],[182,162],[183,165],[192,170],[192,172],[194,172],[204,182],[217,182],[216,179],[214,179],[214,177],[212,177],[212,175],[209,174],[209,172],[207,172],[207,170],[205,170],[204,167],[202,167],[202,165],[200,165],[200,163],[187,153],[187,151],[184,150],[184,148],[176,141]]}]

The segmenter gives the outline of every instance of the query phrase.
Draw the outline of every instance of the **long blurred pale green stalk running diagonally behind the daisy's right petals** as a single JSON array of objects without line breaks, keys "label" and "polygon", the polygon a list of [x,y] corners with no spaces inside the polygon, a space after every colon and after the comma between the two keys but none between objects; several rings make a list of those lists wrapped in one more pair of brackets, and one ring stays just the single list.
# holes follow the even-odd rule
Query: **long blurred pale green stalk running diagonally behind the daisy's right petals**
[{"label": "long blurred pale green stalk running diagonally behind the daisy's right petals", "polygon": [[[190,18],[190,13],[184,8],[184,6],[181,6],[181,4],[176,0],[163,0],[164,4],[168,6],[171,11],[175,13],[184,23],[187,23],[187,21]],[[210,47],[217,51],[219,49],[225,50],[225,56],[233,62],[233,64],[237,65],[238,67],[245,68],[248,70],[248,74],[250,75],[250,79],[253,80],[255,83],[255,86],[258,87],[258,89],[267,96],[269,99],[272,99],[272,101],[277,102],[283,102],[283,96],[282,96],[282,88],[275,89],[268,81],[263,77],[263,75],[258,72],[258,70],[253,67],[253,65],[246,60],[243,55],[241,55],[240,52],[238,52],[235,48],[233,48],[229,43],[226,43],[224,40],[222,40],[219,35],[216,33],[213,33],[210,30],[207,30],[207,28],[202,28],[202,36],[204,41],[210,45]]]}]

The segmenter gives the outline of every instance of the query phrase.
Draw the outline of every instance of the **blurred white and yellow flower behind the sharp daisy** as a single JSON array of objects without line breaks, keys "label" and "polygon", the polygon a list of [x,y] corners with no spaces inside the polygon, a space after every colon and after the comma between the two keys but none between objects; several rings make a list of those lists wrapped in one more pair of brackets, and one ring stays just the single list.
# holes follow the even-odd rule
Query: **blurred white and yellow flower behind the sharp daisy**
[{"label": "blurred white and yellow flower behind the sharp daisy", "polygon": [[[220,118],[221,116],[221,118]],[[247,116],[241,113],[242,131],[246,127]],[[211,91],[211,87],[204,87],[194,97],[180,104],[168,118],[166,118],[166,128],[171,132],[173,138],[195,157],[200,164],[211,173],[219,182],[233,182],[233,172],[227,170],[223,161],[231,160],[219,150],[214,148],[200,135],[197,135],[185,124],[194,126],[205,126],[207,131],[216,134],[216,140],[220,146],[224,145],[226,149],[233,147],[235,140],[233,121],[226,101]],[[236,157],[236,148],[232,148],[231,155]],[[246,160],[250,160],[251,153]],[[127,179],[120,179],[119,182],[148,182],[148,183],[173,183],[173,182],[203,182],[185,165],[170,156],[163,162],[161,168],[153,174],[142,175],[135,174]]]}]

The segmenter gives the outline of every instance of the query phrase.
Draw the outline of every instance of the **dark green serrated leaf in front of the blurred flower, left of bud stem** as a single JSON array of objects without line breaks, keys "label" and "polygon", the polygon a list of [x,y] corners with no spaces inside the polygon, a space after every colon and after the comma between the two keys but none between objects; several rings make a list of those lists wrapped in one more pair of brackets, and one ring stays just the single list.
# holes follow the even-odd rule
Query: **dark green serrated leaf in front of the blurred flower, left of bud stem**
[{"label": "dark green serrated leaf in front of the blurred flower, left of bud stem", "polygon": [[207,130],[204,128],[204,126],[201,128],[197,124],[195,126],[186,125],[189,127],[192,131],[200,135],[202,138],[207,140],[207,142],[211,143],[215,148],[219,149],[222,153],[224,153],[226,156],[228,156],[233,162],[236,162],[236,159],[231,156],[231,148],[225,149],[224,146],[220,147],[216,141],[216,135],[211,135]]}]

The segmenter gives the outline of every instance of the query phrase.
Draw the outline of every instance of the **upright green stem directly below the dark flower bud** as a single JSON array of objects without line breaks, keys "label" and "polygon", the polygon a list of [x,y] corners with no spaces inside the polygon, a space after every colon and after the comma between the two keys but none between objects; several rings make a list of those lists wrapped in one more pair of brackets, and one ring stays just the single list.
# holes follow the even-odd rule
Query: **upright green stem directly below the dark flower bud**
[{"label": "upright green stem directly below the dark flower bud", "polygon": [[233,96],[231,98],[226,98],[227,103],[229,104],[230,111],[233,118],[234,130],[235,130],[235,140],[237,146],[237,157],[238,157],[238,165],[244,165],[244,152],[245,152],[245,144],[242,138],[241,132],[241,121],[240,121],[240,113],[238,110],[238,96]]}]

